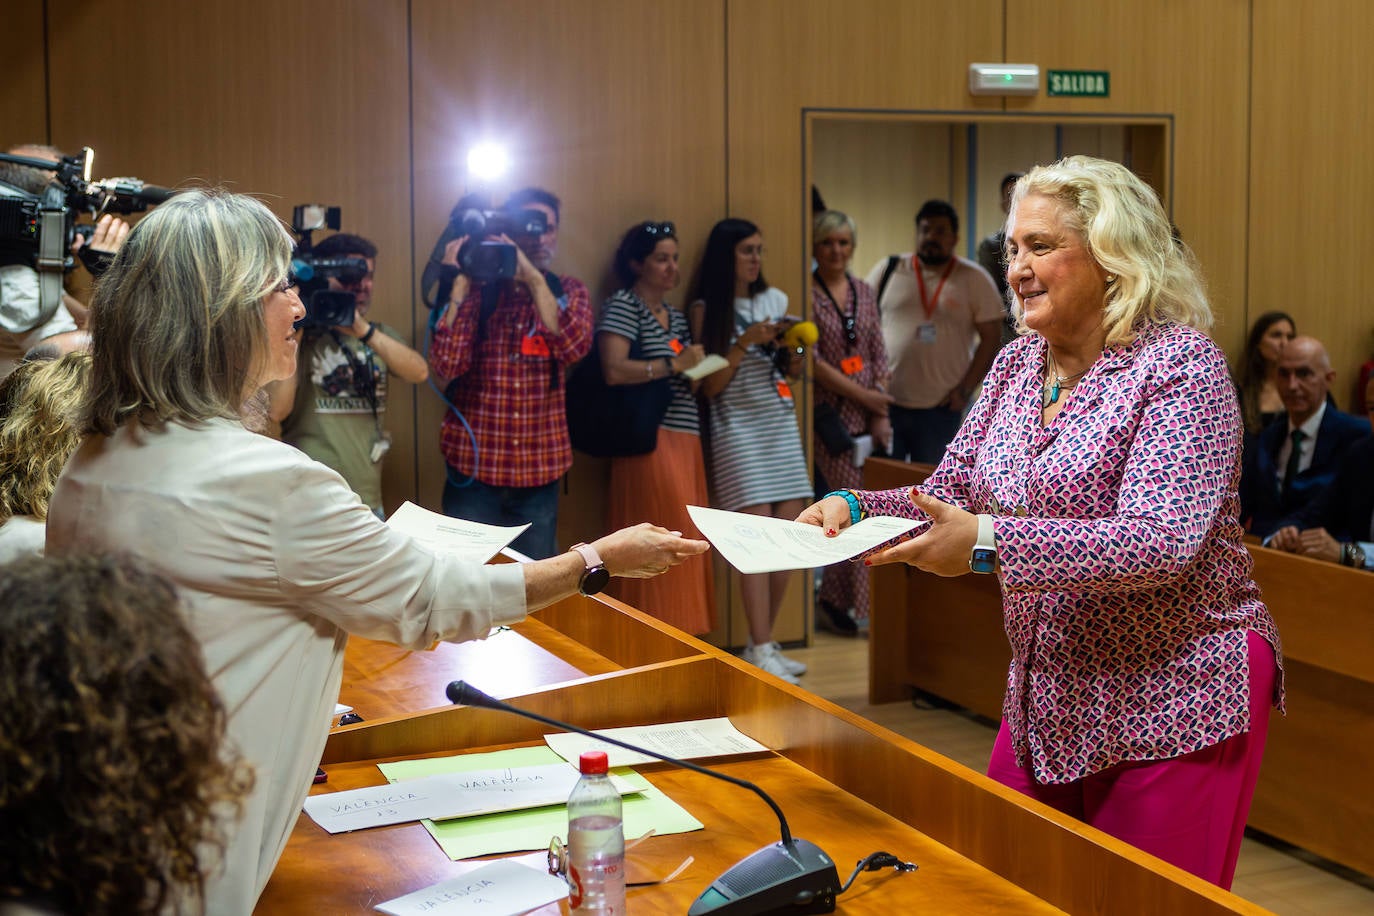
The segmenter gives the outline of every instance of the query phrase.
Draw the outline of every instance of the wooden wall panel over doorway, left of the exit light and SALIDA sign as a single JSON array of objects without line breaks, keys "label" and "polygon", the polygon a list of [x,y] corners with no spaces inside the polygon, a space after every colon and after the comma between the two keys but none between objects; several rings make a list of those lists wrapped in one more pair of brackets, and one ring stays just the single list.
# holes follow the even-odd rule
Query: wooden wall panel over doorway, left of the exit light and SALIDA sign
[{"label": "wooden wall panel over doorway, left of the exit light and SALIDA sign", "polygon": [[[1000,0],[970,0],[956,14],[936,0],[863,0],[842,10],[820,0],[750,0],[727,4],[725,32],[728,211],[763,228],[767,275],[794,304],[805,298],[811,261],[805,108],[1002,107],[967,89],[970,60],[1002,56]],[[859,262],[882,254],[866,247]],[[793,589],[779,640],[805,636],[805,606]]]}]

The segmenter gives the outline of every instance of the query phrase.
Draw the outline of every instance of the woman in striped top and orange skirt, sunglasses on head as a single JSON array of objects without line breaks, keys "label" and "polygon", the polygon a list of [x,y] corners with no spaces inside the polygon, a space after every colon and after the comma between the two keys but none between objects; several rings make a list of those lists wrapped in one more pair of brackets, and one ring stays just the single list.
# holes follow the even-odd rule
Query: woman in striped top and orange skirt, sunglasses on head
[{"label": "woman in striped top and orange skirt, sunglasses on head", "polygon": [[[610,463],[607,526],[660,519],[687,537],[699,537],[688,505],[705,505],[706,466],[701,452],[695,385],[682,375],[705,352],[692,343],[687,316],[668,304],[677,288],[677,235],[672,222],[639,222],[616,250],[621,288],[602,305],[596,353],[607,385],[647,385],[669,379],[672,401],[647,455]],[[694,556],[654,580],[620,580],[611,593],[687,633],[708,633],[716,621],[716,586],[709,556]]]}]

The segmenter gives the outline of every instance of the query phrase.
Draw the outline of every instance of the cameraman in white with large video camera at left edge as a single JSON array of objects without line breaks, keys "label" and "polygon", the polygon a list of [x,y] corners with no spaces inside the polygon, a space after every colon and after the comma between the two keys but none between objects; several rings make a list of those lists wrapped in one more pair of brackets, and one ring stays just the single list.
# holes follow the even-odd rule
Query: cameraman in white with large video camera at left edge
[{"label": "cameraman in white with large video camera at left edge", "polygon": [[[120,250],[129,224],[106,209],[131,213],[170,194],[144,195],[136,179],[92,183],[92,155],[33,143],[0,155],[0,378],[41,343],[51,356],[89,346],[87,308],[63,290],[63,276],[77,258],[99,276]],[[78,210],[103,216],[77,227]]]}]

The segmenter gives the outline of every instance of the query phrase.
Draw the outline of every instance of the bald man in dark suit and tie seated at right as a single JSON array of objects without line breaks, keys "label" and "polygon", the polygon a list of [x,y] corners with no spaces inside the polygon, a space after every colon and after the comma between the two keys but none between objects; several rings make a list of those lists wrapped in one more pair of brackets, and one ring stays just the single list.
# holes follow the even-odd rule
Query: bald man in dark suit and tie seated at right
[{"label": "bald man in dark suit and tie seated at right", "polygon": [[1367,420],[1327,402],[1334,379],[1320,341],[1298,336],[1283,347],[1278,386],[1287,416],[1250,444],[1241,474],[1241,519],[1252,534],[1274,534],[1319,497],[1347,446],[1370,434]]}]

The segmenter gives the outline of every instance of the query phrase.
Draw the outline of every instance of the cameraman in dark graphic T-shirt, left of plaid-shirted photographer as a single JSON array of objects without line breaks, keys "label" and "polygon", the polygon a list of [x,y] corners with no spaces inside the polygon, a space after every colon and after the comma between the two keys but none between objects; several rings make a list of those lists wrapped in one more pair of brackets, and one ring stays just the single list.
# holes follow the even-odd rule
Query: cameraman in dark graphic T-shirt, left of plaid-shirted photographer
[{"label": "cameraman in dark graphic T-shirt, left of plaid-shirted photographer", "polygon": [[[300,258],[298,258],[300,260]],[[400,332],[368,321],[376,246],[337,232],[309,253],[313,265],[349,264],[323,277],[324,288],[352,294],[352,320],[345,313],[312,310],[301,324],[301,354],[295,375],[268,386],[268,415],[282,424],[282,441],[338,471],[374,512],[382,515],[382,457],[390,449],[386,431],[386,389],[390,375],[418,385],[429,378],[425,357],[405,345]],[[357,269],[365,265],[365,272]],[[337,276],[333,276],[337,273]],[[346,297],[345,297],[346,299]]]}]

